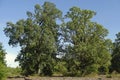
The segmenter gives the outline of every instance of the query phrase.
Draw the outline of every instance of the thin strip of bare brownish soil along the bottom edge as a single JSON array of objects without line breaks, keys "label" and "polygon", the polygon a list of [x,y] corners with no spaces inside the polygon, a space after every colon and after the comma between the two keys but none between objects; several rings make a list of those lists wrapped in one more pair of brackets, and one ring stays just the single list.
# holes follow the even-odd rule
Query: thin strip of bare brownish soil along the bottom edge
[{"label": "thin strip of bare brownish soil along the bottom edge", "polygon": [[120,78],[104,78],[104,77],[16,77],[7,80],[120,80]]}]

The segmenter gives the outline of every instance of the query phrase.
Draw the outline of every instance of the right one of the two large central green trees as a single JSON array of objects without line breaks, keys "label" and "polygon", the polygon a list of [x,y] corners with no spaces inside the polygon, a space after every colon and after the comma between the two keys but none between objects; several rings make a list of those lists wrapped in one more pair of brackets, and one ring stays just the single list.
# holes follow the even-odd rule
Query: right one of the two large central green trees
[{"label": "right one of the two large central green trees", "polygon": [[72,7],[65,16],[65,42],[69,44],[65,48],[65,58],[68,71],[74,71],[73,75],[98,73],[103,71],[102,68],[105,69],[103,72],[108,71],[111,40],[105,38],[108,34],[107,29],[91,21],[95,14],[91,10]]}]

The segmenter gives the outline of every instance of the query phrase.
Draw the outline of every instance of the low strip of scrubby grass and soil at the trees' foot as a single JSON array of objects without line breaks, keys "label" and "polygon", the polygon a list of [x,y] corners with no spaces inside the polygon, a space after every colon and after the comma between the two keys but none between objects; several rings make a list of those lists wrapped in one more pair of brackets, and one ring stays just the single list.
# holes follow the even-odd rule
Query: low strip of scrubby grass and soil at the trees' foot
[{"label": "low strip of scrubby grass and soil at the trees' foot", "polygon": [[[37,75],[23,77],[19,69],[9,69],[9,78],[7,80],[120,80],[120,74],[113,72],[108,75],[89,75],[86,77],[39,77]],[[16,77],[14,77],[16,76]]]}]

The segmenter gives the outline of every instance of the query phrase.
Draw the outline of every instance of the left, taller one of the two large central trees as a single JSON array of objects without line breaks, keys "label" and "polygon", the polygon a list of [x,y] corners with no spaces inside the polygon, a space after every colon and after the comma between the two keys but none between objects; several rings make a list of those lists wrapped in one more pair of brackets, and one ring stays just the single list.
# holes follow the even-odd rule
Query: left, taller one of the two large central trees
[{"label": "left, taller one of the two large central trees", "polygon": [[34,13],[27,12],[28,18],[13,24],[7,23],[4,32],[9,37],[9,45],[20,45],[19,61],[24,74],[52,75],[57,55],[61,11],[53,3],[35,5]]}]

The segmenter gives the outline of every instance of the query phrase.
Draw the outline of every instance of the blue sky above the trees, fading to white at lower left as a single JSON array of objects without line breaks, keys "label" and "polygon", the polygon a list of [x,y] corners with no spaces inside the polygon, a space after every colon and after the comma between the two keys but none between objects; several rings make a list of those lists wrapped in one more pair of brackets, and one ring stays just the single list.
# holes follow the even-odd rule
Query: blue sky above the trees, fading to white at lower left
[{"label": "blue sky above the trees, fading to white at lower left", "polygon": [[63,15],[73,6],[95,11],[97,14],[92,21],[108,29],[107,38],[112,41],[116,38],[115,34],[120,32],[120,0],[0,0],[0,42],[7,52],[8,66],[18,66],[18,62],[14,62],[14,59],[19,53],[20,47],[8,45],[9,38],[3,32],[6,22],[15,23],[20,19],[26,19],[26,11],[33,12],[35,4],[43,5],[45,1],[54,3],[63,12]]}]

